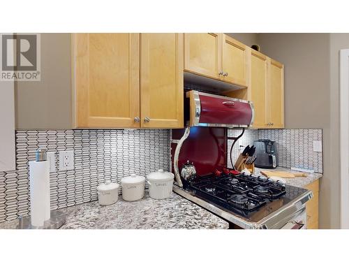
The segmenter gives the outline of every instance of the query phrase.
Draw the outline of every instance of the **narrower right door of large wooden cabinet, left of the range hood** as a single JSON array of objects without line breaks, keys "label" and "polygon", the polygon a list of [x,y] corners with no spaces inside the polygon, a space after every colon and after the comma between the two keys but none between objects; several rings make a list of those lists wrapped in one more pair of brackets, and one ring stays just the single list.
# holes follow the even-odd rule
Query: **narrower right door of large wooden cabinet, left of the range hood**
[{"label": "narrower right door of large wooden cabinet, left of the range hood", "polygon": [[141,127],[183,128],[183,34],[141,34]]}]

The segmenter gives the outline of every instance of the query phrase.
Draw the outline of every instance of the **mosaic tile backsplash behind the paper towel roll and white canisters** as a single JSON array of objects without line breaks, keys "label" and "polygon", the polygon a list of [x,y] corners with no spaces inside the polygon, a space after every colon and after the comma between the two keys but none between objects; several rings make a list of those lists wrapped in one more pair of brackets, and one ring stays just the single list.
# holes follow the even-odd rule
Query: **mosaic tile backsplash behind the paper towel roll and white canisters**
[{"label": "mosaic tile backsplash behind the paper towel roll and white canisters", "polygon": [[[56,210],[97,200],[96,187],[105,180],[170,170],[170,138],[166,129],[16,131],[17,169],[0,172],[0,222],[29,214],[28,161],[38,148],[55,152],[50,199]],[[74,170],[59,171],[58,152],[64,150],[74,150]]]}]

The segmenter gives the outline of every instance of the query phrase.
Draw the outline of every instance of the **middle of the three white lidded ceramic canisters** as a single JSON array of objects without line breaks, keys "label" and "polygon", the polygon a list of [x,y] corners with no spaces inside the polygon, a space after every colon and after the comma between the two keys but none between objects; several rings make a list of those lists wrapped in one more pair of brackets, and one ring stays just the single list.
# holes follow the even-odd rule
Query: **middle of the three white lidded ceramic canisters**
[{"label": "middle of the three white lidded ceramic canisters", "polygon": [[143,198],[145,177],[132,174],[121,179],[122,198],[126,201],[137,201]]}]

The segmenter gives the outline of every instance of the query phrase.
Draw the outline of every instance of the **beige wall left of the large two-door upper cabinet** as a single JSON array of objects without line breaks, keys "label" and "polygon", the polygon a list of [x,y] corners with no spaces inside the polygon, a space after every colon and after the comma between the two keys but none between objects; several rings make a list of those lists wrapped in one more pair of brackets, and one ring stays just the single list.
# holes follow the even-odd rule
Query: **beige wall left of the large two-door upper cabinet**
[{"label": "beige wall left of the large two-door upper cabinet", "polygon": [[15,85],[16,129],[71,128],[70,72],[70,34],[41,34],[41,81]]}]

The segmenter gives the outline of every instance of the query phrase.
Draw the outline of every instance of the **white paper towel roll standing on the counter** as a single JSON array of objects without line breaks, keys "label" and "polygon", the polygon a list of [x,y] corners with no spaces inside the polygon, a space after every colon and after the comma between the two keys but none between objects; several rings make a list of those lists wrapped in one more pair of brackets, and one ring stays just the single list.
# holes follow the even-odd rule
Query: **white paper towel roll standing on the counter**
[{"label": "white paper towel roll standing on the counter", "polygon": [[50,163],[29,162],[31,225],[43,226],[50,219]]}]

